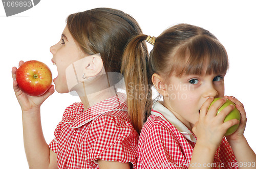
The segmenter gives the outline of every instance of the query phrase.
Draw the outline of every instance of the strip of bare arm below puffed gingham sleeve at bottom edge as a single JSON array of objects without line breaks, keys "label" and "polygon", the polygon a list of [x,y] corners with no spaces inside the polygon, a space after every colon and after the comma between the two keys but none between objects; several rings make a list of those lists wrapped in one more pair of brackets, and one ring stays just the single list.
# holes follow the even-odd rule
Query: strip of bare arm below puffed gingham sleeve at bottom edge
[{"label": "strip of bare arm below puffed gingham sleeve at bottom edge", "polygon": [[118,161],[98,160],[99,169],[130,169],[130,163],[121,163]]}]

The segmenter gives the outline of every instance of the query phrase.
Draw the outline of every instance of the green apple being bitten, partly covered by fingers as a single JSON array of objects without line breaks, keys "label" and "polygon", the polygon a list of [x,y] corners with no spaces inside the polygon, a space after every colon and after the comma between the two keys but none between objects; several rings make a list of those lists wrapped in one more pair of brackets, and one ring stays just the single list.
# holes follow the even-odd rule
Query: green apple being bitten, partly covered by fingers
[{"label": "green apple being bitten, partly covered by fingers", "polygon": [[[216,101],[219,100],[219,99],[221,99],[221,98],[220,98],[220,97],[219,97],[219,98],[215,98],[214,101],[212,101],[212,103],[210,104],[210,106],[211,106],[212,104],[214,104],[214,102],[216,102]],[[232,101],[230,101],[230,100],[227,99],[227,101],[221,106],[221,108],[219,108],[219,110],[218,110],[218,112],[217,112],[217,115],[219,114],[219,112],[220,112],[222,109],[224,109],[225,107],[227,107],[227,106],[230,105],[230,104],[233,104],[234,106],[236,106],[236,104],[234,104]],[[228,121],[228,120],[231,120],[231,119],[237,119],[237,120],[239,120],[239,122],[240,122],[240,119],[241,119],[240,111],[239,111],[236,107],[234,107],[234,109],[226,116],[226,118],[224,119],[224,122],[226,122],[226,121]],[[235,132],[235,131],[237,130],[238,126],[239,126],[239,124],[236,124],[236,125],[231,126],[231,127],[227,130],[225,136],[230,135],[230,134],[232,134],[233,132]]]}]

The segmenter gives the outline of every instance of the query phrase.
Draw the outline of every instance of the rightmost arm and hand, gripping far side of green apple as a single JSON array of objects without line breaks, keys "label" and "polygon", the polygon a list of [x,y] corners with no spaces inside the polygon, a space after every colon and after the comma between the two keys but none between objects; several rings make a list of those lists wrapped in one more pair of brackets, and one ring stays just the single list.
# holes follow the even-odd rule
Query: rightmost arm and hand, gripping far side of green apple
[{"label": "rightmost arm and hand, gripping far side of green apple", "polygon": [[241,114],[241,120],[240,120],[240,125],[238,129],[236,130],[236,132],[226,137],[228,140],[228,143],[230,144],[234,152],[234,155],[236,156],[238,163],[241,164],[239,165],[239,168],[245,168],[246,165],[248,167],[249,163],[252,163],[252,162],[254,162],[254,164],[256,165],[256,155],[253,152],[253,150],[250,148],[246,138],[244,137],[244,130],[245,130],[246,121],[247,121],[244,106],[241,102],[239,102],[234,97],[225,97],[225,98],[234,102]]}]

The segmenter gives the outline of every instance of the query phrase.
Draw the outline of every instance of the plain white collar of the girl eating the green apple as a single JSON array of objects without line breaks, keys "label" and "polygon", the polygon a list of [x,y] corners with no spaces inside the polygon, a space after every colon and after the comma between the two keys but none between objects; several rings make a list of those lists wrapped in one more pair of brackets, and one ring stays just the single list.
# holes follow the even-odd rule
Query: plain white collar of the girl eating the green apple
[{"label": "plain white collar of the girl eating the green apple", "polygon": [[170,111],[168,108],[163,106],[159,101],[154,104],[154,110],[158,111],[151,111],[152,115],[159,116],[165,121],[170,122],[174,127],[176,127],[179,132],[191,142],[196,143],[197,139],[195,135]]}]

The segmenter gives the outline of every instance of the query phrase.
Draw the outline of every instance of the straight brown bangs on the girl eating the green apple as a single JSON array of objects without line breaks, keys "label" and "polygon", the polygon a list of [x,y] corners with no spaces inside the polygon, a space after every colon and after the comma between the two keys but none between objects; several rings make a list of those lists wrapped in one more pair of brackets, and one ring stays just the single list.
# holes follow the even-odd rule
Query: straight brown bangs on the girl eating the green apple
[{"label": "straight brown bangs on the girl eating the green apple", "polygon": [[214,38],[198,36],[176,49],[171,74],[182,75],[223,74],[228,70],[228,57],[224,46]]}]

